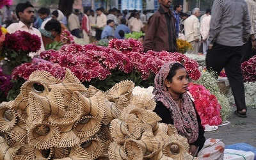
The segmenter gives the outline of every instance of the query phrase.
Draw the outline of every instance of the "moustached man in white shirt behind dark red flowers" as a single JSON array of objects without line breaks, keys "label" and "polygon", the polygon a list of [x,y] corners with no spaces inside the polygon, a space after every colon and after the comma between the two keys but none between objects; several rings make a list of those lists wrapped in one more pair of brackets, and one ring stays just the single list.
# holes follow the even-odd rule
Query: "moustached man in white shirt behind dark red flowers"
[{"label": "moustached man in white shirt behind dark red flowers", "polygon": [[19,3],[16,6],[16,15],[19,19],[19,22],[13,23],[8,26],[7,31],[8,33],[15,33],[15,31],[26,31],[31,33],[31,35],[37,35],[41,39],[41,48],[38,52],[31,52],[29,56],[33,58],[34,56],[38,56],[40,52],[45,51],[42,35],[40,31],[36,28],[33,28],[33,22],[35,19],[35,11],[34,7],[31,3]]}]

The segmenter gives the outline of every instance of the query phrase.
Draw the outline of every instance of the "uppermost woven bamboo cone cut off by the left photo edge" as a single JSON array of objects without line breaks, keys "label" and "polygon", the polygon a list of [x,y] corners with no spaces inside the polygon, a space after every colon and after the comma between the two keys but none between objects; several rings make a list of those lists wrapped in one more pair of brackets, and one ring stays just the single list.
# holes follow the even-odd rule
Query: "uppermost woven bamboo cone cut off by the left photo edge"
[{"label": "uppermost woven bamboo cone cut off by the left photo edge", "polygon": [[7,132],[16,124],[15,111],[12,108],[13,101],[0,104],[0,131]]}]

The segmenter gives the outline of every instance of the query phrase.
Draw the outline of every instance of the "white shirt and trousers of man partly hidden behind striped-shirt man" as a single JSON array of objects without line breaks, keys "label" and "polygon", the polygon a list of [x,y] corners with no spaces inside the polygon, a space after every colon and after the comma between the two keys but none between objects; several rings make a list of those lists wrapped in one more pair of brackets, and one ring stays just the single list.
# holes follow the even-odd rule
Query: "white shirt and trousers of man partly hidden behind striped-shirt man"
[{"label": "white shirt and trousers of man partly hidden behind striped-shirt man", "polygon": [[203,40],[203,53],[206,54],[207,46],[207,38],[209,37],[209,29],[210,29],[211,15],[204,17],[200,24],[200,33],[202,35]]}]

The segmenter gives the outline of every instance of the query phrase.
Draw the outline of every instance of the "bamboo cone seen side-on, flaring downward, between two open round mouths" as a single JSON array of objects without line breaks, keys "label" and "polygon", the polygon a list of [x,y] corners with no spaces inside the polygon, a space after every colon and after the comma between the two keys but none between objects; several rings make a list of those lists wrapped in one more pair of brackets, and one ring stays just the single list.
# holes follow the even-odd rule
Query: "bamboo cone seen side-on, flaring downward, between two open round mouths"
[{"label": "bamboo cone seen side-on, flaring downward, between two open round mouths", "polygon": [[79,144],[80,138],[74,133],[73,124],[68,126],[60,127],[60,140],[56,147],[65,148],[65,147],[74,147]]}]

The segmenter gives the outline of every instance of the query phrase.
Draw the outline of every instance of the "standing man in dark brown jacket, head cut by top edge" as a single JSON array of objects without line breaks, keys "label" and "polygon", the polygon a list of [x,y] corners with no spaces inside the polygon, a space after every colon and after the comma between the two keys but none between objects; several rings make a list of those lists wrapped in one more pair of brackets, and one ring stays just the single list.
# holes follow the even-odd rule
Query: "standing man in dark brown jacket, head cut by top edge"
[{"label": "standing man in dark brown jacket, head cut by top edge", "polygon": [[175,17],[170,10],[171,0],[158,0],[159,9],[148,20],[144,49],[152,51],[177,51]]}]

